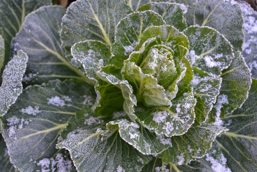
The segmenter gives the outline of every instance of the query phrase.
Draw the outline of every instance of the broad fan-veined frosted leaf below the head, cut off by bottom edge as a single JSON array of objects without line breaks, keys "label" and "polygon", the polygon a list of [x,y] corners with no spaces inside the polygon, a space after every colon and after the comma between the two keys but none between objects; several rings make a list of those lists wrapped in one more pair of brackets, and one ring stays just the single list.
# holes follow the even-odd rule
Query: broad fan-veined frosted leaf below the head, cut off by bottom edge
[{"label": "broad fan-veined frosted leaf below the head, cut off by bottom edge", "polygon": [[83,109],[70,118],[57,147],[70,151],[76,169],[81,172],[140,171],[148,157],[123,141],[118,132],[102,140],[101,132],[108,118]]}]

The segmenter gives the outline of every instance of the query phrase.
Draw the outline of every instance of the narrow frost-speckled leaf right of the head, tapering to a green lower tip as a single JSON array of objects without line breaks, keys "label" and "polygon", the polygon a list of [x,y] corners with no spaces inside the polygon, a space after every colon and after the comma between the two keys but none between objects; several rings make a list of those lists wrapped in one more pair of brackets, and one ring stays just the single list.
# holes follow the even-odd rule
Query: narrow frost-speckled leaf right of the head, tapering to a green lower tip
[{"label": "narrow frost-speckled leaf right of the head, tapering to a green lower tip", "polygon": [[194,108],[196,122],[198,124],[206,121],[208,113],[212,110],[217,96],[220,94],[222,78],[211,76],[207,72],[194,67],[194,78],[190,85],[194,87],[194,97],[197,104]]}]

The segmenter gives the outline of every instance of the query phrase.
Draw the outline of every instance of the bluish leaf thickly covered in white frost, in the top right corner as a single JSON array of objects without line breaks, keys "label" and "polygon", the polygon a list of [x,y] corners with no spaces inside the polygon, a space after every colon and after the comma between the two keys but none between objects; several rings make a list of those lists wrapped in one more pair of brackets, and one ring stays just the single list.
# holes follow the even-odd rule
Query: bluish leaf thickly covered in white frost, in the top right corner
[{"label": "bluish leaf thickly covered in white frost, in the top right corner", "polygon": [[239,1],[244,18],[243,32],[245,35],[242,55],[249,66],[252,77],[257,78],[257,12],[245,1]]}]

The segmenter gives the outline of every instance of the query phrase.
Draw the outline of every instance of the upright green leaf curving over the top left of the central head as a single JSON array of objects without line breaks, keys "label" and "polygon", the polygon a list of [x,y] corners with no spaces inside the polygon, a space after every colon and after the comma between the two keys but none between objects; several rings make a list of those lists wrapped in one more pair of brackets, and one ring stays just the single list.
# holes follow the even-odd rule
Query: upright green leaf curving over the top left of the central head
[{"label": "upright green leaf curving over the top left of the central head", "polygon": [[142,33],[149,26],[166,24],[154,11],[134,12],[123,18],[115,31],[115,42],[112,44],[110,63],[122,68],[123,61],[135,50]]}]

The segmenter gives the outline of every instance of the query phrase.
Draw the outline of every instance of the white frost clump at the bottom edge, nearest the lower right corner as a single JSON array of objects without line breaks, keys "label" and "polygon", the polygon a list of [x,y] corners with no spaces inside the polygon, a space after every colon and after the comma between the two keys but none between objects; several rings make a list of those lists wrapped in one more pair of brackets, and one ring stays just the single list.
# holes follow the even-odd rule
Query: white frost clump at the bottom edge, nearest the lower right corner
[{"label": "white frost clump at the bottom edge, nearest the lower right corner", "polygon": [[[213,150],[213,154],[215,154],[216,150]],[[227,158],[224,157],[222,153],[218,154],[218,158],[215,159],[211,156],[210,153],[206,154],[206,161],[209,161],[212,166],[211,168],[215,172],[231,172],[229,167],[226,167]]]}]

